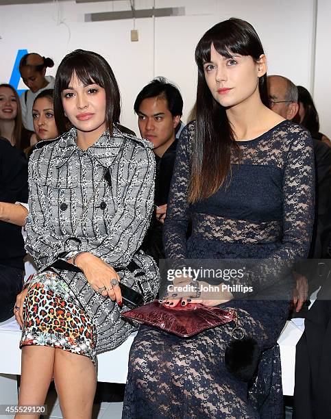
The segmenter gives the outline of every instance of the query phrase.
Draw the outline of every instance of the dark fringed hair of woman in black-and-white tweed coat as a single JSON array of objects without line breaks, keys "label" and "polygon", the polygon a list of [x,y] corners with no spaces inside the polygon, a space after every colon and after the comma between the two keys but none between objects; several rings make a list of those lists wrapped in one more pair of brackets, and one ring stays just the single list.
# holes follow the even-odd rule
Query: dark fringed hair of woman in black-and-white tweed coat
[{"label": "dark fringed hair of woman in black-and-white tweed coat", "polygon": [[112,135],[114,123],[121,114],[121,95],[112,68],[101,55],[93,51],[76,49],[64,57],[54,84],[54,114],[60,134],[66,132],[67,118],[64,116],[62,92],[68,88],[71,77],[76,75],[84,86],[98,84],[106,92],[106,127]]}]

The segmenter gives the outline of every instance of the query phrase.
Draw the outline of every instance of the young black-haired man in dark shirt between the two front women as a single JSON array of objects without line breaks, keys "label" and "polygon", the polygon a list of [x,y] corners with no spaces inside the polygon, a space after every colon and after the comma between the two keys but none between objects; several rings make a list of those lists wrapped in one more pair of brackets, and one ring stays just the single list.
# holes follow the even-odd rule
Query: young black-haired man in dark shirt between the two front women
[{"label": "young black-haired man in dark shirt between the two front women", "polygon": [[175,129],[180,123],[182,110],[183,99],[180,91],[164,77],[158,77],[147,84],[134,102],[140,136],[154,144],[156,157],[155,212],[142,245],[142,249],[154,257],[156,262],[164,257],[162,224],[167,212],[175,162]]}]

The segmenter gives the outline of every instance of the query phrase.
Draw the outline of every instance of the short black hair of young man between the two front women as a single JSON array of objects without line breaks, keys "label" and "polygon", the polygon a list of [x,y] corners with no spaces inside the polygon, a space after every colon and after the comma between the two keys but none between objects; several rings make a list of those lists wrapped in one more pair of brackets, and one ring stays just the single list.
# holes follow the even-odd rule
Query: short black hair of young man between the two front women
[{"label": "short black hair of young man between the two front women", "polygon": [[134,101],[134,112],[138,114],[140,103],[144,99],[150,97],[160,97],[167,101],[168,110],[172,116],[182,116],[183,114],[183,99],[180,90],[176,86],[169,83],[165,77],[156,77],[149,84],[147,84],[136,97]]}]

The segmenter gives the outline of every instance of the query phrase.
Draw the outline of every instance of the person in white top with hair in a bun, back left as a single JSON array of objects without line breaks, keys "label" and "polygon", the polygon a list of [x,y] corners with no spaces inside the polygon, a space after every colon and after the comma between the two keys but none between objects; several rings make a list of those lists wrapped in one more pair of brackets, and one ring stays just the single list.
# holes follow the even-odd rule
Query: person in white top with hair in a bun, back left
[{"label": "person in white top with hair in a bun, back left", "polygon": [[53,67],[53,65],[54,62],[51,58],[42,57],[37,53],[28,53],[21,58],[19,72],[23,83],[29,88],[20,97],[22,118],[23,125],[30,131],[34,130],[34,121],[32,120],[34,99],[42,90],[54,87],[54,77],[45,75],[47,67]]}]

